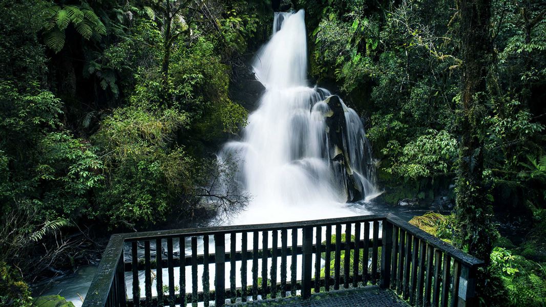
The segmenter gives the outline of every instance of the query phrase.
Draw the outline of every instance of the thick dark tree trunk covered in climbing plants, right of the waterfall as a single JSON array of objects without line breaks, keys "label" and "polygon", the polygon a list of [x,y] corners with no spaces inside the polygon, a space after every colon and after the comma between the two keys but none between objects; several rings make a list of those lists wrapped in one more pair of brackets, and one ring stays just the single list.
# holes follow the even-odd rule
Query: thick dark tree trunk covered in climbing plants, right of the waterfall
[{"label": "thick dark tree trunk covered in climbing plants, right of the waterfall", "polygon": [[485,78],[491,57],[489,35],[491,0],[458,0],[462,76],[458,128],[459,168],[456,218],[461,247],[486,262],[495,239],[492,206],[486,196],[483,170],[482,119],[485,116]]}]

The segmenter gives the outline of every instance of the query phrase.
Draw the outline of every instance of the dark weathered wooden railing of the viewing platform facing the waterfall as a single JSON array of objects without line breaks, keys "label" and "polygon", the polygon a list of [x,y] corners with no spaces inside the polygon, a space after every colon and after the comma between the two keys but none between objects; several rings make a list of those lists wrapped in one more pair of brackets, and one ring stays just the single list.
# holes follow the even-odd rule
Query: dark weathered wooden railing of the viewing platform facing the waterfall
[{"label": "dark weathered wooden railing of the viewing platform facing the waterfall", "polygon": [[223,306],[370,284],[412,305],[473,306],[482,264],[392,214],[114,234],[84,307]]}]

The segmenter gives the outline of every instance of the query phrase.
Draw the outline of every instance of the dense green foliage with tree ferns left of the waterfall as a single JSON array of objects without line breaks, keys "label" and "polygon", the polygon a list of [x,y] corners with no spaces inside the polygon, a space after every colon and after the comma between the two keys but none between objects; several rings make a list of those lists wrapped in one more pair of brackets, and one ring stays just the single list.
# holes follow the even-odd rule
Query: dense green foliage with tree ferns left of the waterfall
[{"label": "dense green foliage with tree ferns left of the waterfall", "polygon": [[205,200],[202,187],[227,176],[212,153],[246,124],[229,89],[268,34],[270,5],[25,0],[0,8],[0,304],[29,304],[22,276],[74,266],[81,246],[106,229],[244,205],[240,195]]}]

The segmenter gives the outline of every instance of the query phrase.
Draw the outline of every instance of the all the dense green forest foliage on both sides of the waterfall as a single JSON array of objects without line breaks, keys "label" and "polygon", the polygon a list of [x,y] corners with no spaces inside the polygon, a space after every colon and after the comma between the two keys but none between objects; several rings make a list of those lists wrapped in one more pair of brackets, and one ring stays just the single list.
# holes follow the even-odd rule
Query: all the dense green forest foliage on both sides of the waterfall
[{"label": "all the dense green forest foliage on both sides of the waterfall", "polygon": [[[459,222],[417,223],[471,251],[482,234],[468,229],[488,226],[489,243],[497,236],[490,204],[503,222],[524,221],[520,242],[494,244],[493,290],[483,297],[491,306],[503,297],[544,304],[546,4],[491,1],[483,88],[467,110],[461,3],[281,8],[306,10],[311,77],[364,119],[382,199],[428,206],[459,193],[468,205]],[[246,124],[232,89],[269,34],[270,1],[0,0],[0,8],[0,304],[29,304],[21,276],[74,265],[89,237],[195,221],[248,200],[206,186],[232,176],[211,153]],[[465,136],[479,146],[468,149]],[[466,223],[464,234],[478,211],[488,225]]]}]

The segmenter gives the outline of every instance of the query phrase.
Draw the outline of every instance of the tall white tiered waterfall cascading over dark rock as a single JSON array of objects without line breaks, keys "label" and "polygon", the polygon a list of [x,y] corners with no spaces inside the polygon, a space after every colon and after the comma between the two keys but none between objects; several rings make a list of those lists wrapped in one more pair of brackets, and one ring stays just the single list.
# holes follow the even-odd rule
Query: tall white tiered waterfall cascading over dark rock
[{"label": "tall white tiered waterfall cascading over dark rock", "polygon": [[[357,113],[307,82],[304,11],[275,13],[273,35],[257,53],[254,73],[265,92],[242,140],[219,160],[238,163],[236,183],[251,195],[233,224],[364,214],[347,202],[377,195],[371,149]],[[360,206],[361,207],[361,206]]]}]

